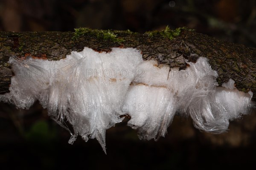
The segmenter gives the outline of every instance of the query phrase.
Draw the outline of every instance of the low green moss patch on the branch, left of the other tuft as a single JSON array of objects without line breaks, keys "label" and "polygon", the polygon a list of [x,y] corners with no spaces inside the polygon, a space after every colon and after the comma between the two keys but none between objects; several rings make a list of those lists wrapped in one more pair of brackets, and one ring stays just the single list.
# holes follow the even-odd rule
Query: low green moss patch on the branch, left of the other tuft
[{"label": "low green moss patch on the branch, left of the other tuft", "polygon": [[111,30],[98,30],[98,29],[90,29],[90,28],[75,28],[74,39],[78,39],[80,36],[91,36],[97,37],[102,40],[111,40],[113,42],[122,42],[124,41],[121,38],[118,38],[116,34]]}]

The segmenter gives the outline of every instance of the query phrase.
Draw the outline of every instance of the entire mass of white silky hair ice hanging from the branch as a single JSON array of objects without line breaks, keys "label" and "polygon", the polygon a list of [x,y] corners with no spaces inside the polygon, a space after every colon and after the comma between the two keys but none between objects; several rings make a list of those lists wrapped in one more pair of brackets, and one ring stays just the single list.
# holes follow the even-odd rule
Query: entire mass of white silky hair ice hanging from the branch
[{"label": "entire mass of white silky hair ice hanging from the branch", "polygon": [[123,114],[131,116],[128,125],[140,139],[157,140],[176,113],[191,116],[200,130],[221,133],[254,107],[252,92],[238,91],[232,79],[217,87],[218,74],[204,57],[180,71],[143,61],[134,48],[109,53],[84,48],[59,61],[11,57],[9,62],[15,76],[0,101],[28,109],[39,100],[62,127],[69,130],[65,121],[73,126],[69,143],[78,135],[96,138],[105,152],[105,131]]}]

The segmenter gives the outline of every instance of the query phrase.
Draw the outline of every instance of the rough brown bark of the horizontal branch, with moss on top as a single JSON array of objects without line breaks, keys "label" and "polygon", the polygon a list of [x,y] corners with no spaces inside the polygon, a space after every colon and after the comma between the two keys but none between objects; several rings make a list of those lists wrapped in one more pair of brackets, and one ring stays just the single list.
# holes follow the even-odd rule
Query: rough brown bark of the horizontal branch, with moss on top
[{"label": "rough brown bark of the horizontal branch, with moss on top", "polygon": [[84,47],[99,52],[111,51],[113,47],[137,48],[145,60],[157,59],[159,64],[180,69],[187,67],[185,59],[195,62],[198,57],[207,57],[212,69],[218,72],[219,85],[232,78],[239,91],[253,91],[256,100],[256,48],[217,40],[187,28],[171,31],[168,27],[145,34],[88,28],[75,32],[0,32],[0,94],[9,92],[13,75],[9,57],[59,60]]}]

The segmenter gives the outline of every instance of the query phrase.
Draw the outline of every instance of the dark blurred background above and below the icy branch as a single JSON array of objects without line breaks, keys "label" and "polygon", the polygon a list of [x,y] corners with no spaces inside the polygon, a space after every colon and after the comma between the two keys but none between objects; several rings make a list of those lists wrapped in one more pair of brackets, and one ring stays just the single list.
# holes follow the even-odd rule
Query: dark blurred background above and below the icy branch
[{"label": "dark blurred background above and below the icy branch", "polygon": [[[167,25],[255,48],[256,1],[0,0],[0,31],[90,27],[143,33]],[[39,103],[30,110],[0,103],[0,169],[255,168],[255,112],[219,135],[199,132],[190,119],[175,116],[157,142],[140,141],[126,122],[107,130],[105,155],[95,139],[68,144],[70,134]]]}]

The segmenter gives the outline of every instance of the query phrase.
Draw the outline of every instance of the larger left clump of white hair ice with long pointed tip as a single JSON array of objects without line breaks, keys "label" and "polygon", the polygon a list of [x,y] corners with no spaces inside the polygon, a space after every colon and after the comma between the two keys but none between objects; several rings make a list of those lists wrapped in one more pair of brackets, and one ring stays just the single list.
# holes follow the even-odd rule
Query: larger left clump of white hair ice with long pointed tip
[{"label": "larger left clump of white hair ice with long pointed tip", "polygon": [[53,119],[73,125],[70,143],[77,135],[96,138],[105,150],[106,129],[122,121],[120,107],[113,104],[122,103],[141,61],[140,51],[132,48],[109,53],[84,48],[60,61],[11,58],[15,76],[10,93],[0,99],[23,109],[38,99]]}]

